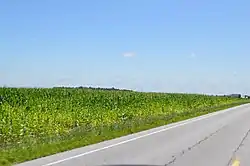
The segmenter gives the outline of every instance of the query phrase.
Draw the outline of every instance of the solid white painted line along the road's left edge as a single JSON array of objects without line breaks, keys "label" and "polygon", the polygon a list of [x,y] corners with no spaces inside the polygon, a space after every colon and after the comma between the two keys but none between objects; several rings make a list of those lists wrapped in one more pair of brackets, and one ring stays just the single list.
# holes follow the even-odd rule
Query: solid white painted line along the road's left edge
[{"label": "solid white painted line along the road's left edge", "polygon": [[[243,105],[241,105],[241,106],[243,106]],[[196,122],[196,121],[199,121],[199,120],[203,120],[203,119],[215,116],[215,115],[223,114],[223,113],[226,113],[226,112],[231,111],[233,109],[236,109],[238,107],[232,107],[232,108],[229,108],[229,109],[224,110],[224,111],[213,112],[213,113],[209,113],[209,114],[202,115],[202,116],[199,116],[199,117],[195,117],[195,118],[192,118],[192,119],[188,119],[188,120],[183,121],[183,123],[180,122],[180,124],[170,126],[168,128],[165,128],[165,129],[154,131],[152,133],[141,135],[141,136],[138,136],[138,137],[135,137],[135,138],[131,138],[131,139],[128,139],[128,140],[125,140],[125,141],[122,141],[122,142],[119,142],[119,143],[116,143],[116,144],[105,146],[103,148],[99,148],[99,149],[91,150],[91,151],[88,151],[88,152],[85,152],[85,153],[81,153],[81,154],[78,154],[78,155],[75,155],[75,156],[72,156],[72,157],[68,157],[68,158],[65,158],[65,159],[62,159],[62,160],[57,160],[55,162],[51,162],[51,163],[48,163],[48,164],[45,164],[45,165],[42,165],[42,166],[55,165],[55,164],[62,163],[64,161],[68,161],[68,160],[71,160],[71,159],[74,159],[74,158],[82,157],[82,156],[85,156],[85,155],[88,155],[88,154],[91,154],[91,153],[95,153],[95,152],[102,151],[102,150],[105,150],[105,149],[108,149],[108,148],[112,148],[112,147],[115,147],[115,146],[118,146],[118,145],[122,145],[122,144],[125,144],[125,143],[128,143],[128,142],[131,142],[131,141],[135,141],[135,140],[140,139],[140,138],[144,138],[144,137],[147,137],[147,136],[150,136],[150,135],[154,135],[154,134],[157,134],[157,133],[160,133],[160,132],[164,132],[164,131],[167,131],[167,130],[170,130],[170,129],[173,129],[173,128],[176,128],[176,127],[180,127],[180,126],[183,126],[183,125],[186,125],[186,124],[189,124],[189,123],[193,123],[193,122]]]}]

